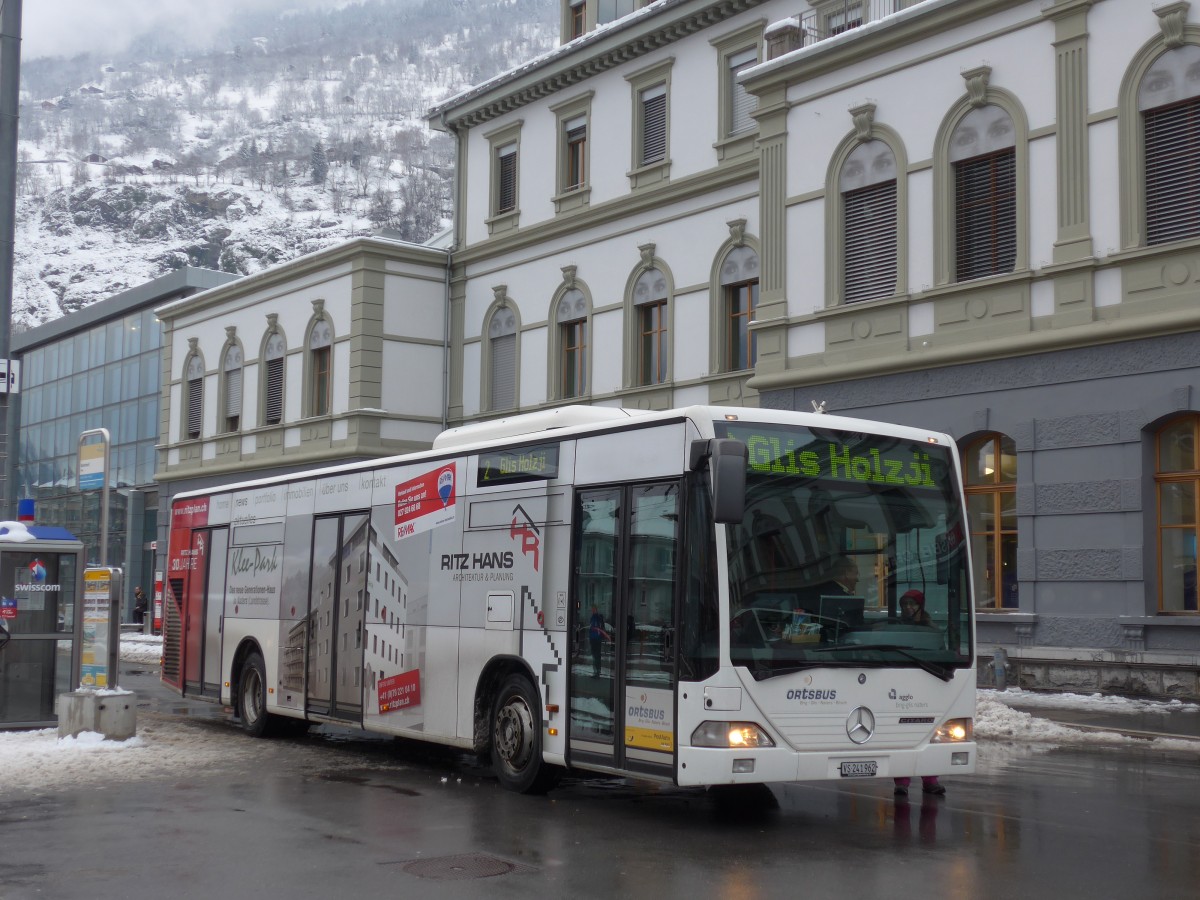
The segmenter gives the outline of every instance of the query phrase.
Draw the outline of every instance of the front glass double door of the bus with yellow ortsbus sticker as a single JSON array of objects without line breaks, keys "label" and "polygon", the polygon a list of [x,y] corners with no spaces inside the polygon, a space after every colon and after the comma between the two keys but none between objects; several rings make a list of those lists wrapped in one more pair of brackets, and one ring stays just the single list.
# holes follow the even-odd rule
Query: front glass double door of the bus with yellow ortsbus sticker
[{"label": "front glass double door of the bus with yellow ortsbus sticker", "polygon": [[674,770],[679,485],[576,494],[570,762]]}]

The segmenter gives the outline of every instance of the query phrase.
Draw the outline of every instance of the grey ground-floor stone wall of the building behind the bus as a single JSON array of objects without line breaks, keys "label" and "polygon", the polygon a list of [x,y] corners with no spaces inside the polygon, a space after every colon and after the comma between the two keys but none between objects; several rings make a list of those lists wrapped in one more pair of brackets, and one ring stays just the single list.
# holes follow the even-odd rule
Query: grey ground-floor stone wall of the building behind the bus
[{"label": "grey ground-floor stone wall of the building behind the bus", "polygon": [[763,395],[763,406],[924,426],[1018,450],[1020,610],[988,641],[1200,649],[1200,622],[1158,616],[1153,430],[1200,406],[1200,335],[898,373]]}]

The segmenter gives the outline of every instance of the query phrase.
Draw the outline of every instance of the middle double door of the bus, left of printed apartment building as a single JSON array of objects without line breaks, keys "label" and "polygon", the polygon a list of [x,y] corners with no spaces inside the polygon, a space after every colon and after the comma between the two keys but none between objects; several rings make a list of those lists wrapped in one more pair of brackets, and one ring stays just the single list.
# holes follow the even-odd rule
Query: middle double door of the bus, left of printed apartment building
[{"label": "middle double door of the bus, left of printed apartment building", "polygon": [[362,716],[362,630],[366,612],[366,515],[313,522],[308,588],[308,712],[337,719]]}]

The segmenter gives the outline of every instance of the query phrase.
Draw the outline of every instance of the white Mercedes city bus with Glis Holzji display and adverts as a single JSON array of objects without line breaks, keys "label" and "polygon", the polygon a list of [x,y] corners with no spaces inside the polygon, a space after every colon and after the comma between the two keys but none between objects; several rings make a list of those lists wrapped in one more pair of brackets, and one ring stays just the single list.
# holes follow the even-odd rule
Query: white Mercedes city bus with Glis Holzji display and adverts
[{"label": "white Mercedes city bus with Glis Holzji display and adverts", "polygon": [[534,413],[175,497],[163,679],[256,736],[331,721],[490,754],[522,792],[568,768],[965,774],[966,534],[946,434]]}]

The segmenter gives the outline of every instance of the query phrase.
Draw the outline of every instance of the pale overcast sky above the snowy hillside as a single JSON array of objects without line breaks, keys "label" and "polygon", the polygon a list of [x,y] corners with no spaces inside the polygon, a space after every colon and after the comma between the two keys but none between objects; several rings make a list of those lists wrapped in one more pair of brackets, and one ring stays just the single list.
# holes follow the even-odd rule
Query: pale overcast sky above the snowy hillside
[{"label": "pale overcast sky above the snowy hillside", "polygon": [[22,59],[114,53],[156,28],[203,42],[248,8],[344,6],[354,0],[23,0]]}]

